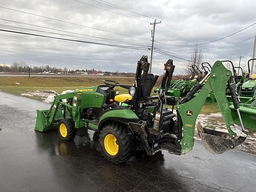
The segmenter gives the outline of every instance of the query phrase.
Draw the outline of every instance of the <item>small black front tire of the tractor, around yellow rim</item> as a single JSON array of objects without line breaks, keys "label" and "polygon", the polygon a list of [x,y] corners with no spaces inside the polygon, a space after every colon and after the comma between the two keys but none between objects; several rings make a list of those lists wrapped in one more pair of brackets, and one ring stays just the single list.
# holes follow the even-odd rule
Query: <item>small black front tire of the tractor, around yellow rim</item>
[{"label": "small black front tire of the tractor, around yellow rim", "polygon": [[[62,124],[65,125],[65,127],[67,128],[67,134],[61,133],[61,126],[63,126]],[[67,119],[63,119],[59,122],[58,125],[58,133],[59,136],[62,140],[72,140],[74,139],[74,137],[76,136],[76,128],[75,128],[75,123],[72,119],[67,120]]]}]

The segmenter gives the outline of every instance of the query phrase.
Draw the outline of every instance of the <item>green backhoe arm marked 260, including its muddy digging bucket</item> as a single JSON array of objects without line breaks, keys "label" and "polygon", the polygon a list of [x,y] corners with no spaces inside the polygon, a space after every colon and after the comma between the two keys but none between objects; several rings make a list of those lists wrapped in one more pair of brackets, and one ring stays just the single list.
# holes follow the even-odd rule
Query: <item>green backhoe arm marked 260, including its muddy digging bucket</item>
[{"label": "green backhoe arm marked 260, including its muddy digging bucket", "polygon": [[[180,104],[176,106],[178,129],[180,130],[180,133],[182,132],[181,130],[183,128],[183,135],[179,136],[181,139],[180,145],[182,148],[182,154],[191,151],[193,148],[196,119],[204,105],[205,100],[207,99],[208,93],[211,92],[211,90],[216,97],[216,101],[226,124],[226,128],[228,129],[228,133],[202,128],[199,124],[198,131],[201,139],[203,140],[204,146],[206,148],[211,148],[211,152],[213,153],[222,153],[227,149],[234,148],[236,145],[243,143],[247,136],[234,124],[228,105],[226,86],[228,84],[231,89],[233,88],[232,72],[225,68],[220,61],[216,61],[208,76],[209,79],[203,87],[203,82],[196,84],[191,91],[188,92],[187,96],[180,100]],[[206,76],[204,80],[208,76]],[[192,98],[194,92],[196,92],[199,88],[201,88],[199,94]],[[237,97],[235,92],[233,92],[233,94],[234,95],[232,97]],[[234,98],[234,102],[236,102],[236,98]]]}]

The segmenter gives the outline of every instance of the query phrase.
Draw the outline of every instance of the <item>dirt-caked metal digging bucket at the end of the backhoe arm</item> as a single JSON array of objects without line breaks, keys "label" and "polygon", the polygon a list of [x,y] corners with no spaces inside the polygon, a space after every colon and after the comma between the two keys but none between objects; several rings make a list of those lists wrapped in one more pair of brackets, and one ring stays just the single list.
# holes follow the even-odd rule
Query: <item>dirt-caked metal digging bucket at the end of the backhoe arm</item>
[{"label": "dirt-caked metal digging bucket at the end of the backhoe arm", "polygon": [[224,153],[228,149],[233,149],[242,144],[246,139],[246,137],[242,136],[235,139],[226,132],[203,128],[200,123],[197,124],[197,130],[204,144],[204,148],[212,154]]}]

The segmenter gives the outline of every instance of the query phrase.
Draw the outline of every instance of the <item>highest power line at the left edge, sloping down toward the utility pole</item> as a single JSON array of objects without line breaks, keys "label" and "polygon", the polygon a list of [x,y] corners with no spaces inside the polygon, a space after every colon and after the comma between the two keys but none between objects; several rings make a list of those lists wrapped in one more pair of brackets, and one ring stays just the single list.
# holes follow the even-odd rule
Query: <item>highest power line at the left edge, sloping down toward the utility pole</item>
[{"label": "highest power line at the left edge, sloping down toward the utility pole", "polygon": [[113,34],[116,34],[116,35],[128,36],[128,37],[132,37],[132,38],[142,39],[142,40],[147,40],[148,41],[148,39],[144,39],[144,38],[140,38],[140,37],[136,37],[136,36],[129,36],[129,35],[125,35],[125,34],[118,33],[118,32],[111,32],[111,31],[104,30],[104,29],[88,27],[86,25],[76,24],[76,23],[72,23],[72,22],[68,22],[68,21],[64,21],[64,20],[59,20],[59,19],[55,19],[55,18],[52,18],[52,17],[48,17],[48,16],[38,15],[38,14],[35,14],[35,13],[24,12],[24,11],[12,9],[12,8],[6,8],[6,7],[2,7],[2,6],[0,6],[0,8],[4,8],[4,9],[16,11],[16,12],[22,12],[22,13],[26,13],[26,14],[33,15],[33,16],[39,16],[39,17],[43,17],[43,18],[46,18],[46,19],[50,19],[50,20],[56,20],[56,21],[59,21],[59,22],[67,23],[67,24],[73,24],[73,25],[77,25],[77,26],[80,26],[80,27],[91,28],[91,29],[95,29],[95,30],[98,30],[98,31],[104,31],[104,32],[109,32],[109,33],[113,33]]}]

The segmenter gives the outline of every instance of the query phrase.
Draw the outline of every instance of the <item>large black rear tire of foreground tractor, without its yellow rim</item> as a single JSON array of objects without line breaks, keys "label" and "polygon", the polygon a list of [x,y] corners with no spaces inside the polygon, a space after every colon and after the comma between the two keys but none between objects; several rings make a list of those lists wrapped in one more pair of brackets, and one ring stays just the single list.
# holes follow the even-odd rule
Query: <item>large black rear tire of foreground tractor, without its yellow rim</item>
[{"label": "large black rear tire of foreground tractor, without its yellow rim", "polygon": [[[105,137],[109,134],[116,137],[116,144],[118,144],[118,152],[116,155],[110,155],[104,147]],[[106,125],[100,132],[99,143],[103,156],[115,164],[128,161],[135,151],[135,139],[132,132],[128,127],[120,124]]]}]

